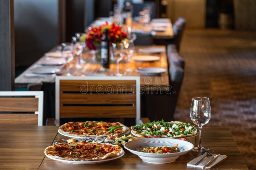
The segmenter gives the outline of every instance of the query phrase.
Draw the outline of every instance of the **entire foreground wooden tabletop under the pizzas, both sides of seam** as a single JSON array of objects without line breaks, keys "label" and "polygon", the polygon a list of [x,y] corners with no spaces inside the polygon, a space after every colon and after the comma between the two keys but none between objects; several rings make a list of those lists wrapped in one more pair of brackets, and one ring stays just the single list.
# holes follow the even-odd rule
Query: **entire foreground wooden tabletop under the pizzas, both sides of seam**
[{"label": "entire foreground wooden tabletop under the pizzas, both sides of seam", "polygon": [[[59,139],[68,139],[58,133],[58,126],[3,126],[0,125],[0,169],[194,169],[187,163],[203,154],[189,151],[172,163],[150,164],[124,149],[124,156],[98,164],[78,165],[60,162],[44,156],[44,149]],[[194,145],[198,136],[187,138]],[[248,169],[228,128],[204,127],[202,144],[216,154],[228,158],[212,169]]]}]

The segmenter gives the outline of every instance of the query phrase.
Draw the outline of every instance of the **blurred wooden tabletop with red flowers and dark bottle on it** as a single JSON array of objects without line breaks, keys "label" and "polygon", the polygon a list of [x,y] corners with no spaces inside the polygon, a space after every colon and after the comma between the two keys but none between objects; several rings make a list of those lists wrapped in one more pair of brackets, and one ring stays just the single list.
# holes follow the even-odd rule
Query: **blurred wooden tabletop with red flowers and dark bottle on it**
[{"label": "blurred wooden tabletop with red flowers and dark bottle on it", "polygon": [[[136,46],[135,47],[136,52],[134,53],[134,55],[147,55],[145,53],[139,52],[140,48],[145,48],[145,47],[158,47],[158,48],[163,48],[166,51],[165,46]],[[56,51],[57,48],[58,47],[55,47],[51,51]],[[141,84],[142,89],[150,88],[153,85],[159,85],[162,87],[166,87],[169,85],[169,76],[168,76],[168,61],[167,61],[165,51],[162,53],[151,54],[151,55],[159,56],[160,60],[158,60],[158,61],[135,62],[135,61],[131,60],[129,63],[129,68],[132,69],[132,72],[130,72],[130,73],[124,71],[125,68],[127,67],[127,63],[123,61],[119,64],[120,65],[119,71],[124,76],[140,76],[140,84]],[[26,69],[23,73],[21,73],[17,78],[15,78],[15,86],[17,88],[26,88],[27,85],[30,83],[35,84],[35,83],[41,83],[42,81],[44,81],[44,82],[54,82],[55,81],[55,78],[49,79],[49,78],[25,77],[25,75],[27,73],[29,73],[31,69],[39,66],[38,62],[40,60],[43,60],[43,58],[44,58],[44,56],[41,57],[38,61],[36,61],[33,65],[28,67],[28,69]],[[106,74],[107,76],[112,76],[113,74],[116,73],[116,64],[115,63],[111,63],[109,69],[102,71],[101,63],[95,61],[95,55],[91,51],[84,52],[83,58],[86,60],[86,63],[81,64],[82,65],[81,69],[77,69],[76,67],[74,67],[75,59],[73,60],[73,62],[70,64],[70,73],[71,74],[77,75],[77,74],[99,73],[99,74]],[[165,73],[162,73],[159,76],[144,76],[135,71],[135,69],[138,67],[161,67],[161,68],[165,68],[167,71]],[[61,73],[65,73],[65,71],[66,71],[66,67],[63,67],[61,69],[60,75],[61,75]]]}]

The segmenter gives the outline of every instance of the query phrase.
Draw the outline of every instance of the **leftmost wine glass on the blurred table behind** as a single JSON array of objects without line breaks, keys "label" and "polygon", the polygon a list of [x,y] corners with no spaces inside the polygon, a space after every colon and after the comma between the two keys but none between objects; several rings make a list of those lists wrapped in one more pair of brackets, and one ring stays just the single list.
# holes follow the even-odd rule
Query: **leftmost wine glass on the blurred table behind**
[{"label": "leftmost wine glass on the blurred table behind", "polygon": [[67,73],[63,75],[71,76],[72,74],[69,73],[69,62],[74,58],[73,43],[61,43],[61,46],[61,57],[67,62]]}]

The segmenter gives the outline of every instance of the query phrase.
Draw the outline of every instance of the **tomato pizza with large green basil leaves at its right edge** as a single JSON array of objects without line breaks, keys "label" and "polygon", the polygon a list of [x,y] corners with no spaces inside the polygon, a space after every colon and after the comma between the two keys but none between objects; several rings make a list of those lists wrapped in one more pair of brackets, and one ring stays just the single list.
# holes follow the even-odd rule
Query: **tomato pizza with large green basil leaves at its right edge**
[{"label": "tomato pizza with large green basil leaves at its right edge", "polygon": [[129,132],[127,126],[119,122],[69,122],[59,127],[59,133],[75,138],[108,136]]}]

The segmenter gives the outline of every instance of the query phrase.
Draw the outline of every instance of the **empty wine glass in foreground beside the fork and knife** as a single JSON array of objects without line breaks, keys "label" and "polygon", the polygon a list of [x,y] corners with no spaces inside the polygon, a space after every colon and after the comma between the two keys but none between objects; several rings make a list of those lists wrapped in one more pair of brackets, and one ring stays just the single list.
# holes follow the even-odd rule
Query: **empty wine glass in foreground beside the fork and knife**
[{"label": "empty wine glass in foreground beside the fork and knife", "polygon": [[202,126],[207,124],[211,118],[210,99],[207,97],[196,97],[192,99],[190,108],[190,118],[198,126],[199,130],[199,144],[194,147],[192,151],[205,152],[208,151],[201,145]]}]

